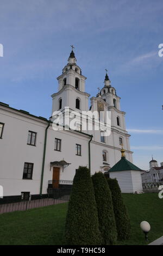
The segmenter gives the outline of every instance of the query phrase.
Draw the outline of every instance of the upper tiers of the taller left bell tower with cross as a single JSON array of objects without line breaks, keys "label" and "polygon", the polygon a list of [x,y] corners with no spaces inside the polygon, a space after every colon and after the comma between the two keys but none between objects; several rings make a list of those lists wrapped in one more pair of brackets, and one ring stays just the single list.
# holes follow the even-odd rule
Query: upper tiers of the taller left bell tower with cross
[{"label": "upper tiers of the taller left bell tower with cross", "polygon": [[71,47],[68,63],[62,69],[62,74],[57,77],[58,92],[52,95],[52,114],[54,111],[64,110],[65,107],[74,111],[87,111],[89,108],[90,94],[85,92],[86,77],[82,75],[82,69],[76,64],[74,46]]}]

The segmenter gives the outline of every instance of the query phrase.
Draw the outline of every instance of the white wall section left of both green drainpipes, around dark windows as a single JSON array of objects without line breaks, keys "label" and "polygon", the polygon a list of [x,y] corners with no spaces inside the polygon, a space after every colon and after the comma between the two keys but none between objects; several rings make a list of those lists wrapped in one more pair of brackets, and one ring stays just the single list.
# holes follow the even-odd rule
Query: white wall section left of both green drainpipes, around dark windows
[{"label": "white wall section left of both green drainpipes, around dark windows", "polygon": [[[0,121],[4,123],[0,139],[0,185],[4,196],[21,192],[39,194],[46,121],[1,107]],[[37,132],[36,147],[27,145],[28,131]],[[23,180],[24,162],[34,163],[33,179]]]}]

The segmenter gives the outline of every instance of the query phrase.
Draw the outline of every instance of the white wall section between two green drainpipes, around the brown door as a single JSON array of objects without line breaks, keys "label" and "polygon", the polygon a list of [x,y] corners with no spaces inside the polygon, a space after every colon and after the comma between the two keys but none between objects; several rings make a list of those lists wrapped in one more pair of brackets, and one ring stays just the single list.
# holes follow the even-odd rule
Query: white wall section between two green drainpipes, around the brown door
[{"label": "white wall section between two green drainpipes, around the brown door", "polygon": [[[61,152],[54,150],[54,139],[61,139]],[[71,131],[48,130],[46,161],[43,178],[43,193],[47,192],[48,180],[53,179],[53,168],[50,170],[50,162],[64,160],[71,163],[64,169],[60,167],[60,180],[73,180],[76,169],[79,166],[89,167],[88,142],[90,137]],[[82,156],[76,156],[76,144],[82,145]]]}]

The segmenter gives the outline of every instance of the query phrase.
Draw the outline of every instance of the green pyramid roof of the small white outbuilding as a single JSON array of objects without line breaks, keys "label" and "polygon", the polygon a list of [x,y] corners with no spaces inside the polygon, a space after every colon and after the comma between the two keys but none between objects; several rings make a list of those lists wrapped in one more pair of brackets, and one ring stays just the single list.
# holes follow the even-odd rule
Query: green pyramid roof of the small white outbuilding
[{"label": "green pyramid roof of the small white outbuilding", "polygon": [[120,172],[121,170],[141,170],[139,167],[135,166],[133,163],[128,161],[125,156],[121,157],[121,160],[118,161],[110,170],[110,172]]}]

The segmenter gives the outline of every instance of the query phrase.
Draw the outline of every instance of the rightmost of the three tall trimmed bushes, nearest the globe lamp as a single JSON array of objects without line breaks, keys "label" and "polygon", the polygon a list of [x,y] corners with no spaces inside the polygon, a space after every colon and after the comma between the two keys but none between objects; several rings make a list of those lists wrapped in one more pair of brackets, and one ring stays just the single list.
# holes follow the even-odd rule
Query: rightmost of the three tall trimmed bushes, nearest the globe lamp
[{"label": "rightmost of the three tall trimmed bushes, nearest the globe lamp", "polygon": [[120,186],[116,179],[108,179],[111,194],[112,204],[114,208],[114,215],[117,227],[117,238],[118,240],[126,240],[130,237],[130,220],[127,213],[126,205],[123,203]]}]

